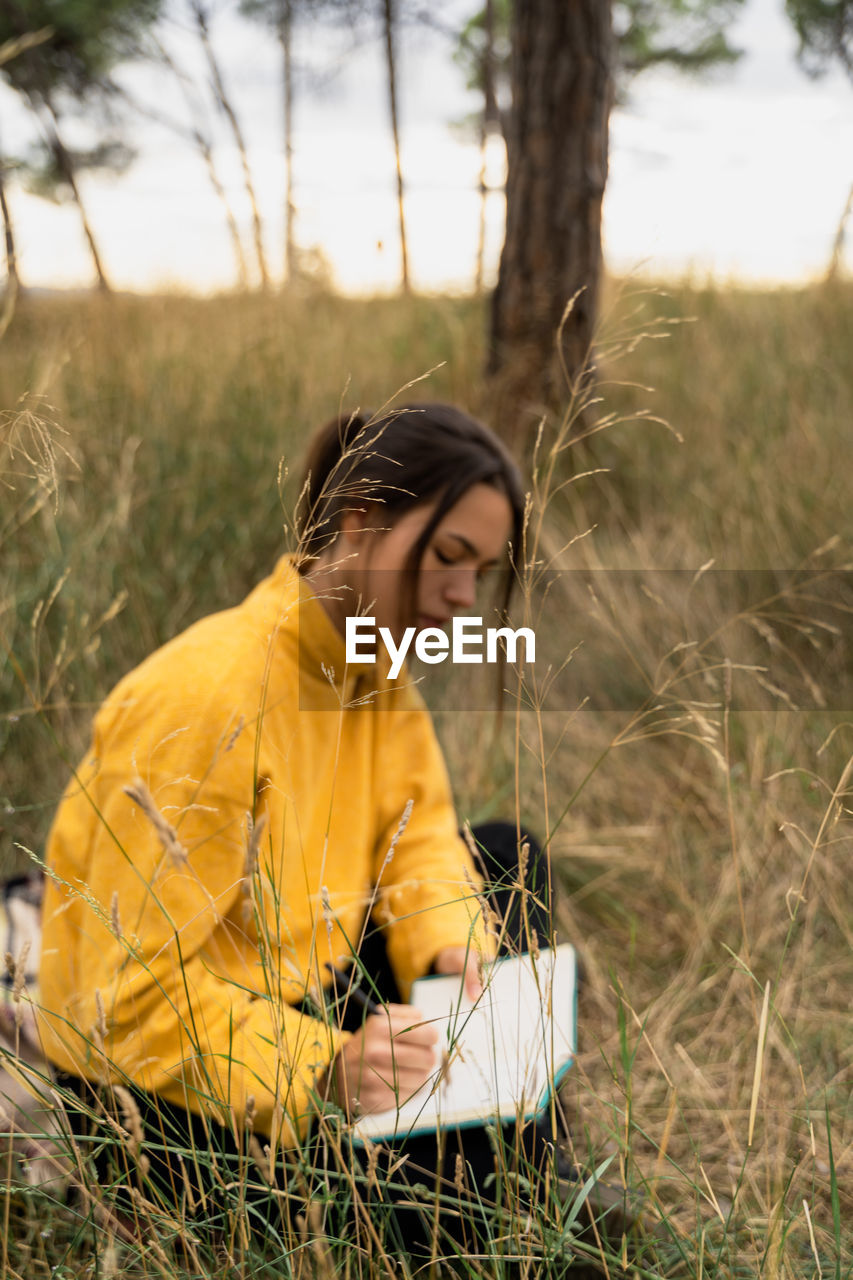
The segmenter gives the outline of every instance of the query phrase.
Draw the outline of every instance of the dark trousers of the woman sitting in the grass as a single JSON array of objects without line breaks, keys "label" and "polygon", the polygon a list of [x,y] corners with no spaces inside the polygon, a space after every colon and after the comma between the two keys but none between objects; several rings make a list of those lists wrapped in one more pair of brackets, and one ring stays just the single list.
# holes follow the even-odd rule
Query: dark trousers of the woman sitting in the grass
[{"label": "dark trousers of the woman sitting in the grass", "polygon": [[[502,922],[501,950],[528,950],[534,932],[547,945],[548,874],[535,841],[524,837],[528,850],[520,855],[515,827],[507,823],[478,827],[474,838],[487,899]],[[400,1000],[380,931],[365,937],[359,966],[374,993]],[[357,1029],[362,1016],[350,1001],[341,1023]],[[99,1126],[93,1117],[106,1106],[131,1132],[136,1119],[126,1114],[127,1098],[118,1092],[97,1100],[92,1085],[69,1076],[59,1083],[83,1103],[72,1123],[78,1140],[91,1144],[102,1185],[123,1188],[129,1180],[167,1211],[177,1204],[182,1216],[223,1231],[234,1210],[246,1212],[268,1239],[280,1233],[282,1248],[292,1242],[292,1224],[302,1221],[311,1235],[327,1238],[364,1234],[369,1240],[377,1233],[388,1248],[412,1256],[429,1256],[437,1242],[451,1253],[482,1249],[507,1188],[515,1188],[516,1206],[519,1194],[534,1197],[562,1137],[546,1119],[524,1126],[446,1128],[393,1148],[368,1147],[352,1142],[334,1115],[323,1115],[302,1148],[282,1155],[270,1187],[259,1161],[264,1135],[234,1134],[133,1088],[142,1140],[117,1144],[109,1124]]]}]

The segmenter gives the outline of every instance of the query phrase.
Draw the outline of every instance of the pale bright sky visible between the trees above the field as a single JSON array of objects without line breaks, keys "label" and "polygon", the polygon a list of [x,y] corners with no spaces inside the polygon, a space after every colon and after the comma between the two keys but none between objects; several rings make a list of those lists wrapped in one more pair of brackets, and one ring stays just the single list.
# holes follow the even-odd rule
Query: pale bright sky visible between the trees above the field
[{"label": "pale bright sky visible between the trees above the field", "polygon": [[[455,3],[462,14],[476,8],[476,0]],[[233,9],[222,0],[215,6],[213,40],[248,141],[269,262],[280,278],[279,54],[263,27],[238,19]],[[224,120],[205,100],[197,41],[174,23],[165,38],[197,84],[250,253],[240,160]],[[613,110],[603,214],[612,271],[758,283],[800,283],[825,271],[853,182],[853,84],[840,70],[815,81],[799,69],[784,0],[748,0],[730,38],[745,50],[734,69],[701,81],[671,70],[646,73]],[[345,292],[393,289],[400,252],[380,44],[362,37],[353,47],[348,33],[304,28],[296,61],[297,242]],[[479,156],[459,122],[476,100],[450,58],[448,41],[437,33],[403,32],[398,61],[412,283],[424,291],[466,291],[475,274]],[[128,67],[120,79],[150,109],[186,122],[184,99],[168,74]],[[5,86],[0,122],[5,152],[23,152],[33,124]],[[82,145],[92,137],[91,122],[69,120],[67,132]],[[133,119],[129,137],[138,157],[124,175],[83,182],[111,283],[199,292],[234,284],[223,209],[197,152],[142,116]],[[502,164],[496,143],[489,156],[496,186]],[[24,284],[91,283],[76,211],[9,186]],[[502,228],[503,200],[496,193],[488,202],[489,278]],[[853,266],[853,246],[845,265]]]}]

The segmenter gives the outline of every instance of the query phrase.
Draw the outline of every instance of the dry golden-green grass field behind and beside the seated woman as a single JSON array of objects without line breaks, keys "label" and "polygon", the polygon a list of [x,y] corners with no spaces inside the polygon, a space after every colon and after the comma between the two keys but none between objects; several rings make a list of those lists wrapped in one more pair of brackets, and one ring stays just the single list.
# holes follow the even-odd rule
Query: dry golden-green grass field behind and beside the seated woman
[{"label": "dry golden-green grass field behind and beside the seated woman", "polygon": [[[853,1272],[853,291],[607,292],[601,403],[571,424],[592,434],[555,452],[566,424],[547,419],[530,550],[596,582],[713,562],[762,571],[783,595],[744,604],[726,649],[711,637],[743,602],[710,593],[685,636],[666,600],[649,611],[640,579],[593,599],[570,573],[537,626],[567,655],[603,611],[585,678],[617,682],[617,708],[552,710],[546,694],[496,736],[491,713],[438,699],[437,722],[460,814],[519,813],[549,841],[561,929],[585,969],[566,1089],[579,1158],[612,1155],[670,1222],[634,1265],[840,1280]],[[288,545],[311,429],[397,394],[487,415],[484,328],[473,300],[315,289],[19,302],[0,346],[4,876],[38,856],[115,680],[238,600]],[[525,425],[533,439],[535,413]],[[813,607],[784,594],[794,571],[826,575]],[[672,658],[685,639],[703,699]],[[772,680],[726,705],[726,657],[772,666]],[[10,1276],[56,1266],[33,1196],[12,1208]]]}]

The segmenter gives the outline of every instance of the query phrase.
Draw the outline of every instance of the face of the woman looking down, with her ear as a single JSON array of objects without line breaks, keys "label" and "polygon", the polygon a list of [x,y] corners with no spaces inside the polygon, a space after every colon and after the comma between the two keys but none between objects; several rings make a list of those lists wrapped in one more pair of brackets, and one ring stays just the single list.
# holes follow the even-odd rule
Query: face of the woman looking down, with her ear
[{"label": "face of the woman looking down, with her ear", "polygon": [[412,507],[383,530],[377,527],[382,507],[373,507],[352,512],[342,529],[350,554],[356,553],[351,576],[360,605],[352,612],[369,613],[396,639],[405,626],[441,627],[456,613],[469,612],[483,575],[506,561],[510,500],[491,485],[471,485],[430,534],[420,561],[415,617],[403,617],[410,556],[434,509],[435,503]]}]

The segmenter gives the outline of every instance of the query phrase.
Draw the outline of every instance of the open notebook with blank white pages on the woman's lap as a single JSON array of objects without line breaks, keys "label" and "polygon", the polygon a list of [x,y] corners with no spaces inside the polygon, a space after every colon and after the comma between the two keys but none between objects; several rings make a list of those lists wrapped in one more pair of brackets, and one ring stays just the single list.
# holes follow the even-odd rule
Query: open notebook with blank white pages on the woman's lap
[{"label": "open notebook with blank white pages on the woman's lap", "polygon": [[442,1125],[532,1117],[571,1065],[576,1042],[575,951],[492,964],[471,1004],[460,978],[421,978],[410,1004],[439,1032],[434,1075],[400,1107],[361,1116],[353,1137],[401,1139]]}]

